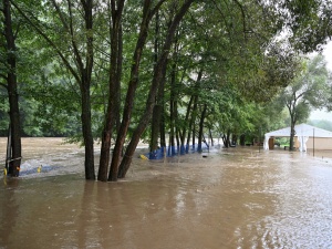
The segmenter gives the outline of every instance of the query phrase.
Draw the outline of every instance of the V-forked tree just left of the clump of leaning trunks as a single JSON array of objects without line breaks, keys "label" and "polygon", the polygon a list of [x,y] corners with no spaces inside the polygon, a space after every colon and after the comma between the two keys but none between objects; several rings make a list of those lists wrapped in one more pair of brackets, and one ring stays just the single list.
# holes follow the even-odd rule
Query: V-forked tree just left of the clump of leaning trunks
[{"label": "V-forked tree just left of the clump of leaning trunks", "polygon": [[[27,11],[27,9],[23,10],[17,2],[11,2],[27,22],[34,29],[38,35],[44,39],[46,44],[55,51],[80,87],[82,133],[85,147],[85,178],[95,179],[91,124],[91,83],[94,59],[94,1],[83,0],[81,2],[75,2],[69,0],[66,6],[64,2],[58,2],[55,0],[51,1],[51,3],[48,3],[48,6],[44,6],[43,8],[48,7],[48,9],[50,8],[49,10],[54,11],[55,14],[52,15],[52,18],[55,19],[53,20],[54,23],[51,22],[51,15],[49,15],[49,18],[44,17],[44,19],[40,19],[37,11]],[[66,12],[64,12],[65,8]],[[83,14],[81,15],[81,13]],[[51,27],[56,29],[59,25],[62,27],[62,29],[58,30],[58,32],[50,29]],[[63,38],[68,38],[68,40]],[[66,44],[66,49],[62,48],[63,42]]]}]

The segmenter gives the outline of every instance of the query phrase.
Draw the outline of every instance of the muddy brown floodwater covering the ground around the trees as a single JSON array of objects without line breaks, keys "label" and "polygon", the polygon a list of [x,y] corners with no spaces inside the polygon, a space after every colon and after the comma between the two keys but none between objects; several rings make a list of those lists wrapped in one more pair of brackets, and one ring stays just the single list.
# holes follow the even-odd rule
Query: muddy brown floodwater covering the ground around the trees
[{"label": "muddy brown floodwater covering the ground around the trees", "polygon": [[0,248],[332,248],[325,156],[246,147],[135,157],[124,180],[97,183],[84,180],[83,149],[60,143],[23,139],[22,176],[0,181]]}]

